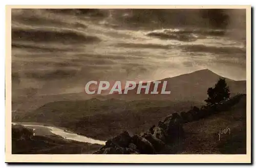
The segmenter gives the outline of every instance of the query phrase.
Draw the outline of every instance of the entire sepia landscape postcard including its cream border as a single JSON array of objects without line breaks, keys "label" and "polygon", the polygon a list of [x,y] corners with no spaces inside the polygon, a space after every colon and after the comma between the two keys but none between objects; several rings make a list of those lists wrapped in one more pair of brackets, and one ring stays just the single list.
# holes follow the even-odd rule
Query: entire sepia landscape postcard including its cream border
[{"label": "entire sepia landscape postcard including its cream border", "polygon": [[7,6],[7,161],[250,162],[250,11]]}]

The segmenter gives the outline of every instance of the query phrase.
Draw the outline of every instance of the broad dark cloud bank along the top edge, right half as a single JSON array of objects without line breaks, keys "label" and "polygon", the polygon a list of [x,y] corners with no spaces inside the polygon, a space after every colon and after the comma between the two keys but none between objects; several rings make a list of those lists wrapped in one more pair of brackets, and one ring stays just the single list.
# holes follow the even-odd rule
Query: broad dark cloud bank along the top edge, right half
[{"label": "broad dark cloud bank along the top edge, right half", "polygon": [[[226,29],[239,22],[236,13],[245,9],[117,9],[111,10],[112,23],[121,28],[174,28],[201,27]],[[240,25],[240,24],[236,24]]]}]

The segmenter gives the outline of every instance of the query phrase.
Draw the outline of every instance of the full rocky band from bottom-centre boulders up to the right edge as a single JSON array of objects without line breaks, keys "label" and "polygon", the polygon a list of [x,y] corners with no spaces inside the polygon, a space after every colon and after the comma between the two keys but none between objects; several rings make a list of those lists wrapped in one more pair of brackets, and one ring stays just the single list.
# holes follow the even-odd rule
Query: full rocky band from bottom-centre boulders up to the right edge
[{"label": "full rocky band from bottom-centre boulders up to the right edge", "polygon": [[[94,154],[161,154],[172,149],[184,138],[183,124],[227,111],[236,105],[245,94],[238,94],[228,101],[216,105],[194,107],[187,112],[173,113],[140,135],[127,131],[106,141],[105,146]],[[193,129],[193,128],[191,128]]]}]

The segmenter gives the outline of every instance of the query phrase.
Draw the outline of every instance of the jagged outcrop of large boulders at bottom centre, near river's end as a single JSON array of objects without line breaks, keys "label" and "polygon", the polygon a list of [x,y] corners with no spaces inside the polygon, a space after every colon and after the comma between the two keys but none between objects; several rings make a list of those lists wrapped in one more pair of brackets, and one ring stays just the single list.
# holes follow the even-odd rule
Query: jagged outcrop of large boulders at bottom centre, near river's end
[{"label": "jagged outcrop of large boulders at bottom centre, near river's end", "polygon": [[173,113],[141,135],[131,137],[128,132],[122,132],[106,141],[105,146],[94,154],[156,154],[169,143],[182,139],[182,124],[182,117]]}]

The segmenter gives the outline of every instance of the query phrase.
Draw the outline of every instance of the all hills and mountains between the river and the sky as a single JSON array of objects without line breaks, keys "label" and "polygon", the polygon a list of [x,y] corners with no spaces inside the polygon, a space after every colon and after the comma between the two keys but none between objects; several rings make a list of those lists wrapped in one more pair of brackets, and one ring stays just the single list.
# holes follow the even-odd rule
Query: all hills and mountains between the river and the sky
[{"label": "all hills and mountains between the river and the sky", "polygon": [[[207,98],[208,87],[214,86],[220,77],[210,70],[200,70],[162,79],[168,82],[166,90],[171,91],[164,95],[136,94],[136,88],[128,94],[101,95],[88,100],[75,100],[77,97],[74,94],[74,97],[65,101],[64,98],[52,102],[48,100],[45,105],[30,112],[15,112],[12,119],[13,122],[49,123],[88,137],[106,140],[124,128],[134,133],[141,132],[170,113],[206,104],[204,100]],[[226,81],[231,96],[246,92],[246,81]]]}]

